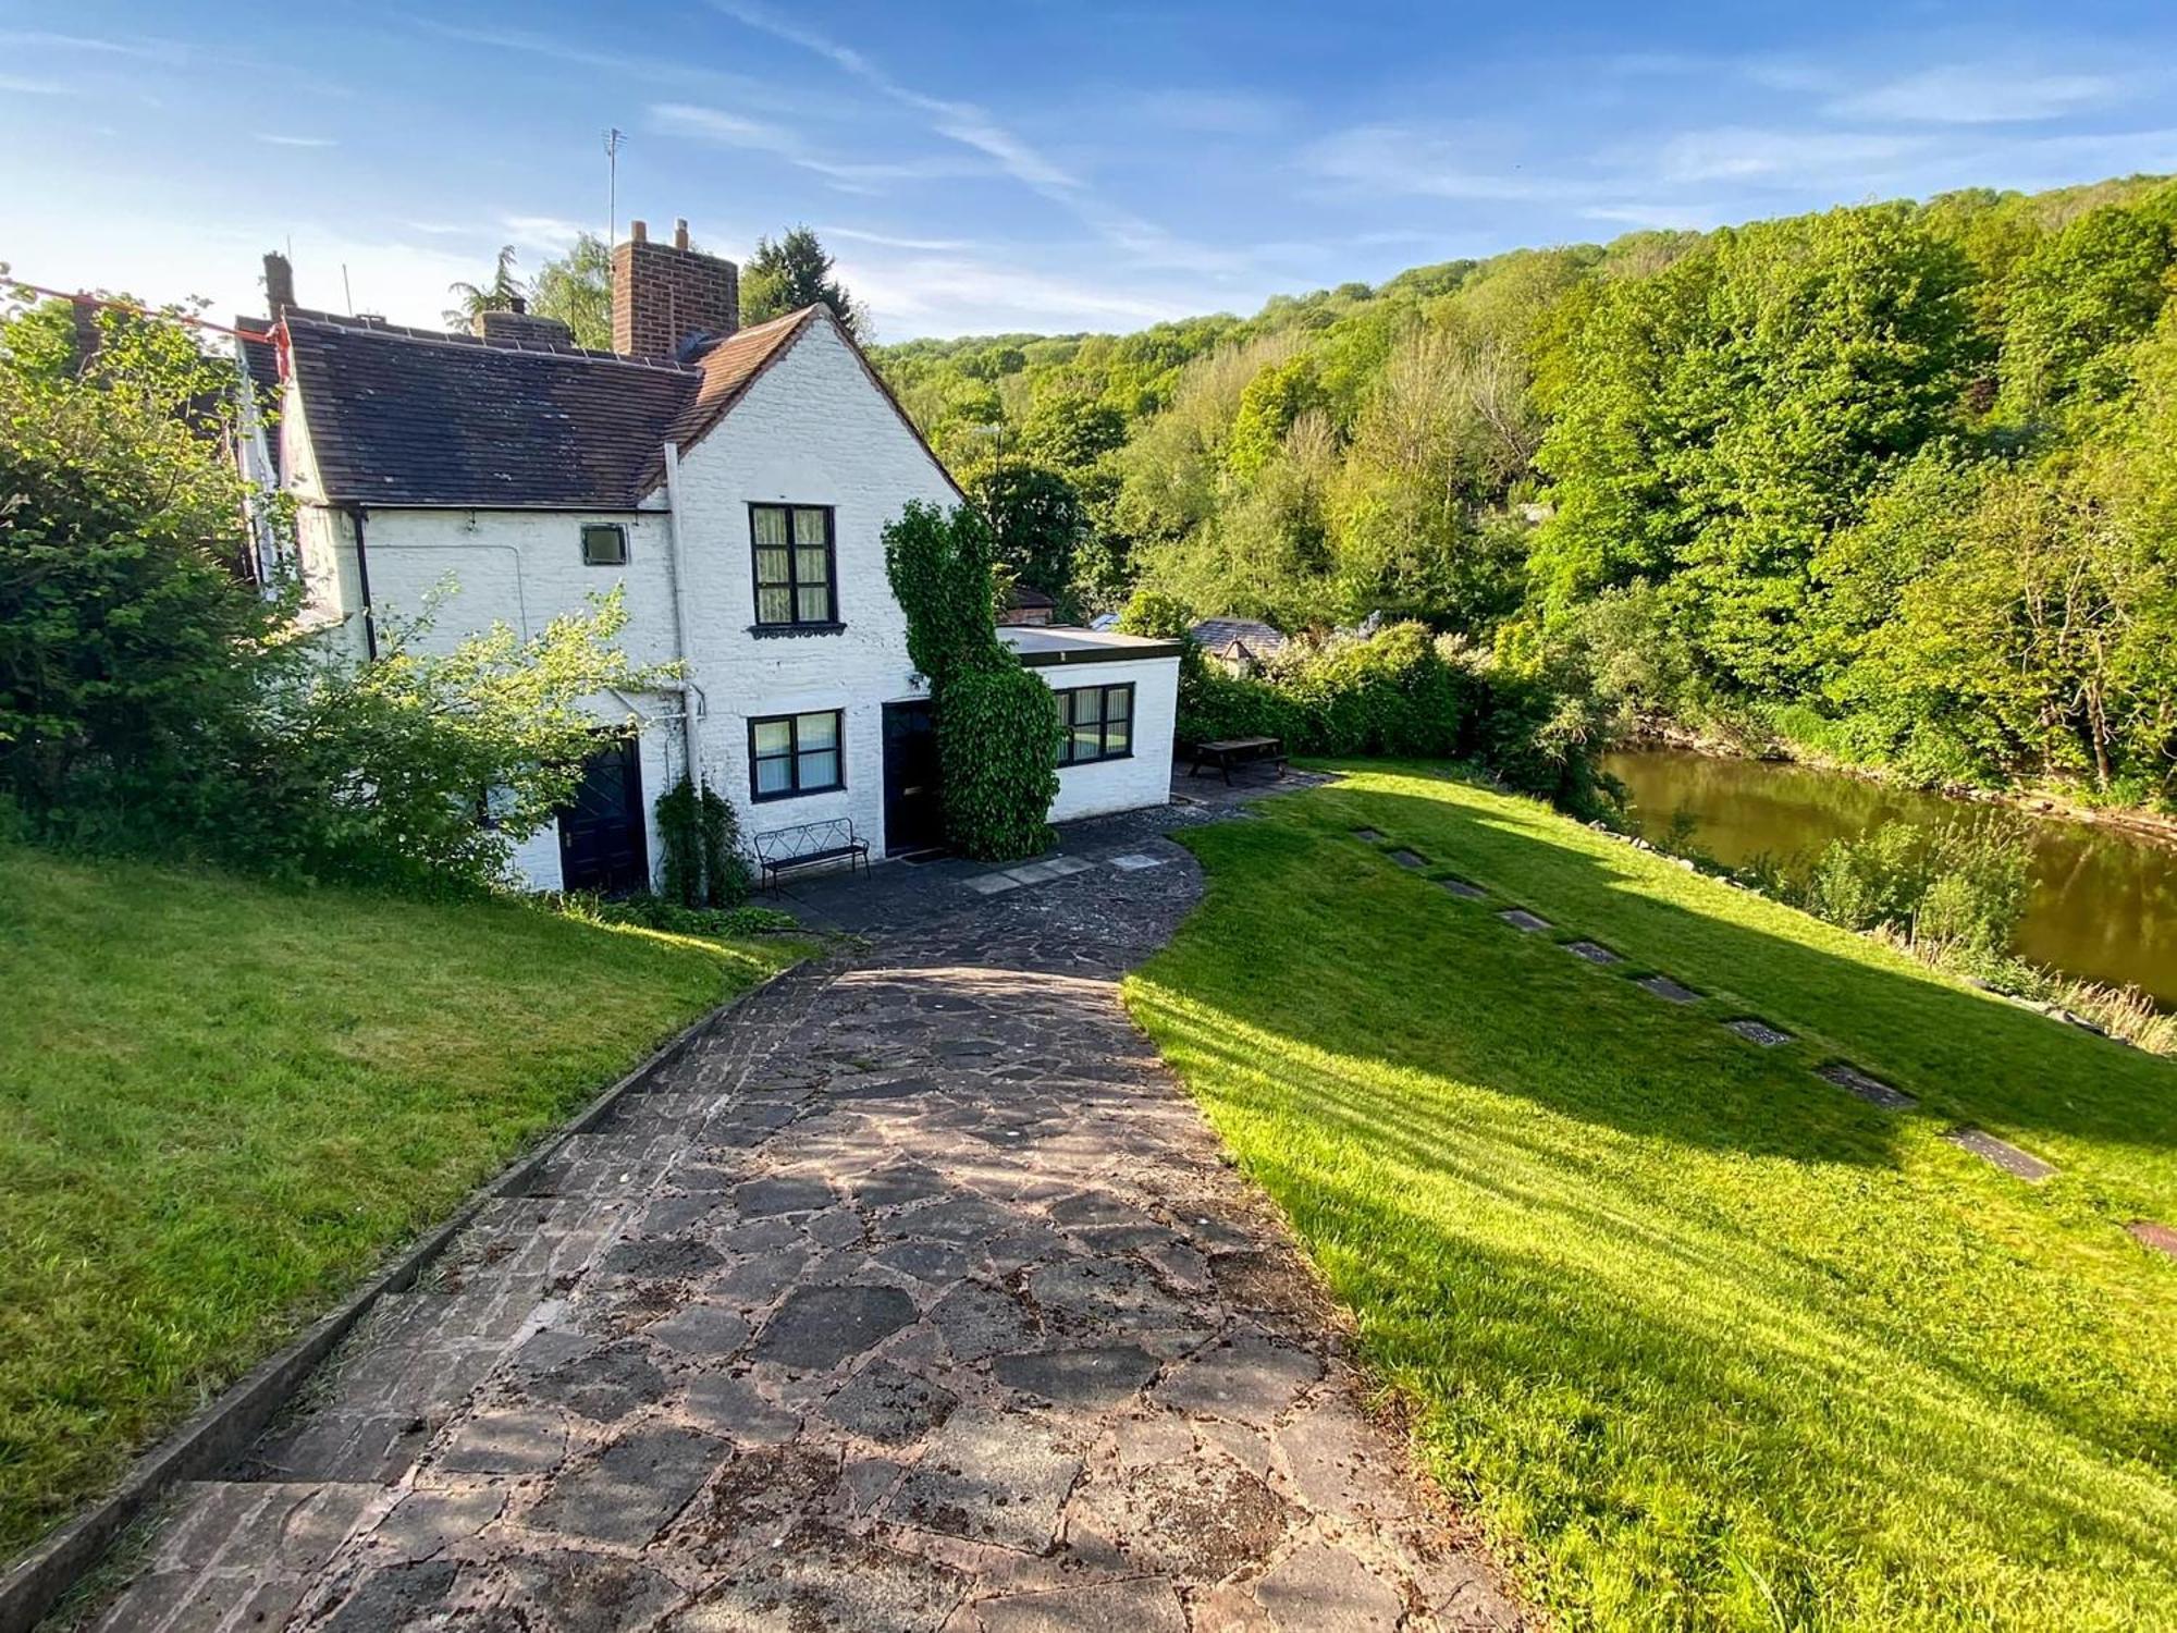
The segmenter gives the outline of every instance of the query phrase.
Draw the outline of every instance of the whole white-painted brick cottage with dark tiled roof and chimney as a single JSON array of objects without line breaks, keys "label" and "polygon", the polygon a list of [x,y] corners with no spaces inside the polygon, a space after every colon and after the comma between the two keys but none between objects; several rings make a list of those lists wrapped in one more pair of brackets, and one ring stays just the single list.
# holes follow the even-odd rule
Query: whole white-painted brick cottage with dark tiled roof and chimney
[{"label": "whole white-painted brick cottage with dark tiled roof and chimney", "polygon": [[[684,671],[596,699],[579,799],[520,847],[533,888],[647,884],[653,803],[688,771],[749,836],[847,819],[873,856],[938,840],[930,701],[882,529],[908,501],[964,501],[829,311],[738,329],[738,272],[686,222],[673,244],[636,222],[614,250],[612,353],[520,311],[477,335],[305,311],[279,257],[268,274],[276,375],[244,361],[281,394],[272,453],[311,616],[368,655],[448,581],[444,644],[494,621],[536,634],[623,586],[627,653]],[[1169,799],[1176,644],[1001,634],[1069,723],[1054,821]]]}]

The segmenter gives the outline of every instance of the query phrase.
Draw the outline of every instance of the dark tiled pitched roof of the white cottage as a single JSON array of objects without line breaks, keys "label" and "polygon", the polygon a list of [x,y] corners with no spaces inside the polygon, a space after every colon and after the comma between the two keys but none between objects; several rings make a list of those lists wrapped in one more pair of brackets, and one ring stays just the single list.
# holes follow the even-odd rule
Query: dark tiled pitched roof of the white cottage
[{"label": "dark tiled pitched roof of the white cottage", "polygon": [[287,344],[329,501],[627,509],[664,479],[668,440],[701,442],[819,320],[805,307],[686,364],[292,309]]}]

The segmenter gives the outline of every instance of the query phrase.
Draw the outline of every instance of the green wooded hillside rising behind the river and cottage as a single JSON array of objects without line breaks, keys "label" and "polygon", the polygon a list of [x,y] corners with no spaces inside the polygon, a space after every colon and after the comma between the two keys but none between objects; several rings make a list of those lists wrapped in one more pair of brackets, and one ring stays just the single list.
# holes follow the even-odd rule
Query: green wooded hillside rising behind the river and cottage
[{"label": "green wooded hillside rising behind the river and cottage", "polygon": [[2170,803],[2173,268],[2129,179],[882,366],[1073,612],[1419,618],[1620,719]]}]

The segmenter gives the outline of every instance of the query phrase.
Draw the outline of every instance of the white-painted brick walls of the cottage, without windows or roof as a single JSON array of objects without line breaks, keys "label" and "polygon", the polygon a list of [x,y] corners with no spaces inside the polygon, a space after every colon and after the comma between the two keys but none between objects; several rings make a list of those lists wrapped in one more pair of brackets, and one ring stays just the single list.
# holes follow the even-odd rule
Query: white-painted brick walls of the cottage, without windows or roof
[{"label": "white-painted brick walls of the cottage, without windows or roof", "polygon": [[[290,472],[298,499],[313,499],[307,449],[294,431],[300,414],[290,392]],[[694,449],[679,470],[681,553],[686,560],[688,666],[701,686],[703,771],[734,799],[742,832],[849,816],[884,854],[884,703],[921,697],[908,662],[906,616],[884,573],[884,525],[910,499],[958,503],[943,468],[923,451],[860,361],[827,322],[814,322],[751,388],[742,403]],[[755,636],[755,584],[749,503],[832,505],[838,562],[838,634]],[[451,647],[505,621],[533,636],[583,605],[592,590],[625,586],[627,629],[638,664],[673,658],[671,529],[664,492],[638,514],[377,509],[366,518],[364,555],[370,601],[383,616],[414,616],[440,601],[429,644]],[[581,562],[581,525],[627,527],[627,566]],[[348,518],[305,503],[300,549],[313,603],[348,616],[361,605]],[[1169,793],[1169,742],[1178,664],[1171,660],[1067,664],[1036,671],[1054,688],[1136,686],[1132,760],[1069,766],[1058,773],[1054,819],[1160,803]],[[642,734],[642,799],[653,803],[684,771],[677,695],[594,699],[601,721],[627,716],[629,701],[653,721]],[[749,797],[749,721],[766,714],[840,710],[847,786],[827,795]],[[1152,747],[1154,745],[1154,747]],[[651,814],[651,867],[657,867]],[[546,830],[518,851],[522,877],[540,891],[559,886],[559,843]]]}]

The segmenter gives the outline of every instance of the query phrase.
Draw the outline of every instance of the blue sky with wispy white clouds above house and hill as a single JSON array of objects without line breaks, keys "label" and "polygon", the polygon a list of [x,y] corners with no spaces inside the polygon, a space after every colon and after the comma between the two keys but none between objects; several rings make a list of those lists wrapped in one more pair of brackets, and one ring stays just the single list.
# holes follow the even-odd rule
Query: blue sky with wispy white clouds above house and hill
[{"label": "blue sky with wispy white clouds above house and hill", "polygon": [[2177,7],[0,0],[0,261],[438,322],[503,242],[821,231],[882,340],[2177,170]]}]

